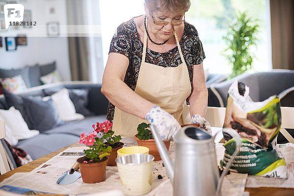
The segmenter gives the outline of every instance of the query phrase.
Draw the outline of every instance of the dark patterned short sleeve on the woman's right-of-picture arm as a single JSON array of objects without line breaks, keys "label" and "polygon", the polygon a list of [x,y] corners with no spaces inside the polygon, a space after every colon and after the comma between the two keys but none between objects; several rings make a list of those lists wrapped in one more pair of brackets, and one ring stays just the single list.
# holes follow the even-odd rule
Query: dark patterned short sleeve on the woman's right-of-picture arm
[{"label": "dark patterned short sleeve on the woman's right-of-picture arm", "polygon": [[192,63],[193,65],[199,65],[205,58],[204,50],[199,39],[198,32],[193,25],[191,25],[190,33],[194,40],[193,47],[191,48]]}]

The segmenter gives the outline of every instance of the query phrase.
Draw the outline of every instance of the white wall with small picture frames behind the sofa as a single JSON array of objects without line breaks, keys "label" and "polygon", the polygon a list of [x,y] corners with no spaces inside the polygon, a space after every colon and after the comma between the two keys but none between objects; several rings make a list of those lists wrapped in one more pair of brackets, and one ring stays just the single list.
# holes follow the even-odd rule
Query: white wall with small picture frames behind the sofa
[{"label": "white wall with small picture frames behind the sofa", "polygon": [[[21,68],[25,65],[47,64],[56,61],[56,66],[65,80],[71,80],[70,61],[67,37],[46,37],[47,22],[59,22],[67,25],[67,9],[65,0],[17,0],[25,9],[31,10],[32,21],[37,22],[37,28],[13,29],[11,26],[7,31],[0,30],[3,47],[0,48],[0,68]],[[49,13],[54,8],[53,14]],[[36,33],[36,29],[42,33]],[[39,31],[38,31],[39,32]],[[7,36],[27,36],[27,46],[18,46],[15,51],[6,51],[5,39]]]}]

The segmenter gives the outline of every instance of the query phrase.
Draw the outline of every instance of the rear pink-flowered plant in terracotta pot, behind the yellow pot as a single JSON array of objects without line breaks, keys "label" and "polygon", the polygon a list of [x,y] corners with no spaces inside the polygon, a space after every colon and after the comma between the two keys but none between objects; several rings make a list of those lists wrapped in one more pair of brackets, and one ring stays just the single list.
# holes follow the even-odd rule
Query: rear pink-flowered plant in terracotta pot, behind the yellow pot
[{"label": "rear pink-flowered plant in terracotta pot, behind the yellow pot", "polygon": [[111,130],[112,123],[108,120],[105,120],[103,123],[96,123],[96,125],[93,124],[92,127],[97,133],[102,134],[102,139],[106,141],[104,144],[112,147],[112,151],[108,156],[107,166],[116,166],[117,150],[123,147],[123,143],[120,142],[122,137],[120,135],[114,135],[114,131]]}]

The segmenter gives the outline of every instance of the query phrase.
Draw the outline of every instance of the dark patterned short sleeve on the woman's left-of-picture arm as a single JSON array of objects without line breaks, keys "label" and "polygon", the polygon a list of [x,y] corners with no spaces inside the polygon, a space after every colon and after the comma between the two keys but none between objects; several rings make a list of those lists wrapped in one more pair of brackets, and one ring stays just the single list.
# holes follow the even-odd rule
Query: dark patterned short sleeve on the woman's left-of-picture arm
[{"label": "dark patterned short sleeve on the woman's left-of-picture arm", "polygon": [[132,42],[131,27],[127,23],[123,23],[117,28],[110,43],[109,53],[116,52],[129,58]]}]

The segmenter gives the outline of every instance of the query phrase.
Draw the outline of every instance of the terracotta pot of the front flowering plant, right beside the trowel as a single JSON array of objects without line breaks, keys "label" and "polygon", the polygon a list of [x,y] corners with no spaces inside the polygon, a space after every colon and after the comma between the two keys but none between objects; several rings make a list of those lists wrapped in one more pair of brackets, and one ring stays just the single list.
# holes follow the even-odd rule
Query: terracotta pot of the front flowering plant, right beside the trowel
[{"label": "terracotta pot of the front flowering plant, right beside the trowel", "polygon": [[77,159],[83,182],[96,183],[104,181],[106,178],[106,163],[108,157],[104,157],[102,159],[103,161],[96,163],[83,163],[84,159],[84,156]]}]

